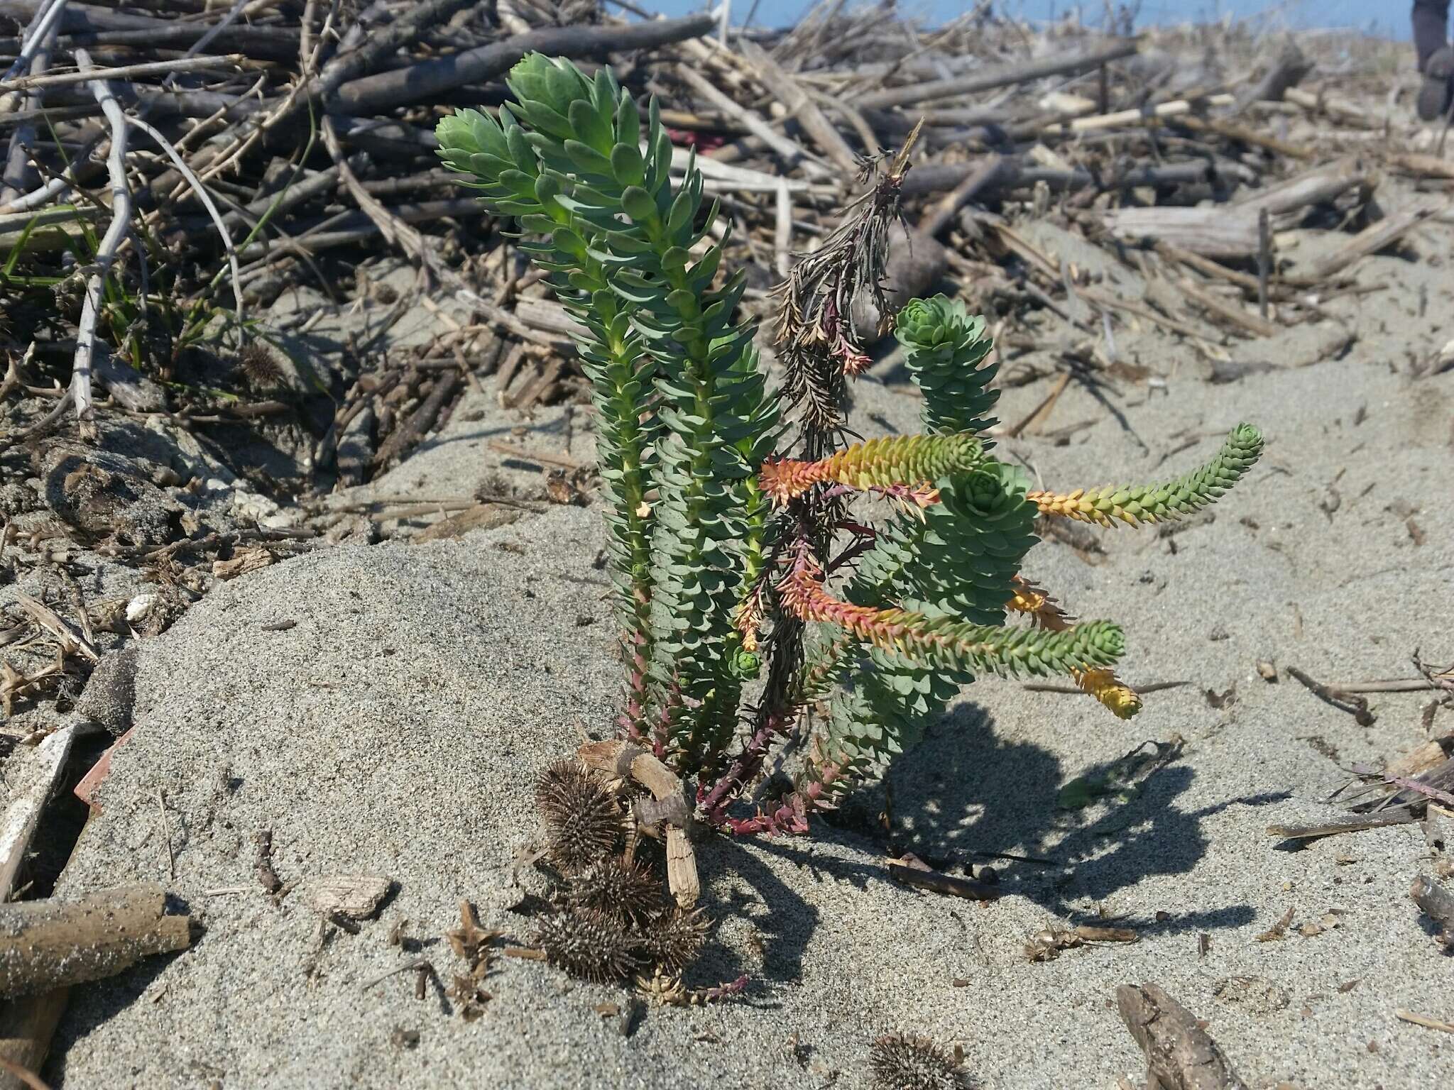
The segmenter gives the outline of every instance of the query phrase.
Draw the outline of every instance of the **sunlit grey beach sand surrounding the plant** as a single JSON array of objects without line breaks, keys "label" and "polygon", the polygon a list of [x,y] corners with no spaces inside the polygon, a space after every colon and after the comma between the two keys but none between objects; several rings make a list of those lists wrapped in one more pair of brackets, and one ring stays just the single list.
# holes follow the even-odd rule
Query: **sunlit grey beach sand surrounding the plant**
[{"label": "sunlit grey beach sand surrounding the plant", "polygon": [[[1266,833],[1339,815],[1323,799],[1348,764],[1428,737],[1428,693],[1375,695],[1361,727],[1285,667],[1326,683],[1407,677],[1415,648],[1450,651],[1454,372],[1409,374],[1410,356],[1454,331],[1450,289],[1438,267],[1393,257],[1359,279],[1391,286],[1329,304],[1358,334],[1341,359],[1284,369],[1296,346],[1280,343],[1272,371],[1211,385],[1189,362],[1169,374],[1165,342],[1127,334],[1122,352],[1169,374],[1165,389],[1130,387],[1111,413],[1072,385],[1054,421],[1083,429],[1064,445],[1002,445],[1047,485],[1075,487],[1173,475],[1239,420],[1264,429],[1262,462],[1210,513],[1096,532],[1104,554],[1045,542],[1027,565],[1075,613],[1122,622],[1131,683],[1186,685],[1121,722],[1083,696],[983,680],[887,791],[859,792],[811,836],[704,836],[717,924],[689,982],[747,974],[733,1001],[643,1017],[625,988],[497,958],[484,1014],[465,1022],[439,985],[419,1000],[414,972],[384,975],[425,958],[448,987],[464,964],[442,936],[465,898],[483,926],[528,939],[512,908],[538,879],[516,884],[512,860],[539,839],[535,776],[609,728],[621,682],[596,512],[340,546],[218,587],[142,645],[134,738],[58,891],[161,881],[205,933],[76,988],[47,1078],[856,1087],[874,1038],[904,1030],[963,1046],[979,1086],[1109,1089],[1144,1071],[1115,987],[1154,982],[1205,1020],[1250,1087],[1454,1083],[1454,1036],[1394,1017],[1454,1019],[1454,959],[1407,895],[1431,865],[1419,825],[1301,850]],[[1284,336],[1298,333],[1319,336]],[[1252,342],[1234,356],[1258,353]],[[915,429],[917,403],[888,379],[855,388],[865,435]],[[1019,420],[1044,392],[1009,391],[1000,417]],[[507,417],[470,398],[406,465],[420,487],[468,491],[499,468],[489,442]],[[542,413],[518,440],[563,452],[558,423]],[[589,456],[589,432],[576,435],[570,452]],[[1450,722],[1441,712],[1435,732]],[[1122,769],[1137,747],[1165,763],[1125,792],[1059,805],[1072,780]],[[263,891],[260,830],[284,882],[374,873],[395,892],[358,934],[324,926],[298,895]],[[890,841],[957,872],[993,863],[1003,897],[906,888],[885,872]],[[1287,936],[1259,942],[1288,910]],[[1080,923],[1140,940],[1027,959],[1032,934]],[[390,945],[397,929],[420,945]]]}]

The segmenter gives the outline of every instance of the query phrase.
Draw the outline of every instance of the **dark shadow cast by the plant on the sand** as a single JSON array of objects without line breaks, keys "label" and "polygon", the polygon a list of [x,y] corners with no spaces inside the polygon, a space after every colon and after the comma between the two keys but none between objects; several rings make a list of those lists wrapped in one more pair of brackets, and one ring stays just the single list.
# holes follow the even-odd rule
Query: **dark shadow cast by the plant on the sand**
[{"label": "dark shadow cast by the plant on the sand", "polygon": [[[1127,748],[1134,741],[1128,737]],[[830,823],[819,824],[819,834],[867,837],[885,855],[913,852],[948,873],[987,863],[999,872],[1006,897],[1025,897],[1072,923],[1090,921],[1088,905],[1095,901],[1144,878],[1192,872],[1208,847],[1205,818],[1234,805],[1288,798],[1288,792],[1269,792],[1186,810],[1178,799],[1195,775],[1181,748],[1166,743],[1146,743],[1130,760],[1067,767],[1043,746],[996,732],[981,706],[960,703],[896,763],[885,786],[855,795]],[[890,801],[891,833],[883,824]],[[1075,802],[1083,805],[1063,805]],[[768,904],[788,907],[763,924],[765,961],[774,980],[794,975],[820,913],[801,894],[787,891],[755,857],[758,852],[798,857],[804,868],[864,885],[893,881],[877,859],[810,857],[790,839],[723,852],[720,865],[730,866]],[[920,894],[906,889],[904,895]],[[724,903],[718,911],[739,907]],[[1143,934],[1185,933],[1237,927],[1253,916],[1252,905],[1243,903],[1192,911],[1168,905],[1157,919],[1133,923]]]}]

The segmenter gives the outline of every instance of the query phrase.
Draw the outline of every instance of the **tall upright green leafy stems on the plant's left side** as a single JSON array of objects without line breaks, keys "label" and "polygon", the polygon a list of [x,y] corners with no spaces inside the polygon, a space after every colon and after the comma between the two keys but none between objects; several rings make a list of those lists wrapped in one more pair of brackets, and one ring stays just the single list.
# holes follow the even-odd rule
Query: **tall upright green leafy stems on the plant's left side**
[{"label": "tall upright green leafy stems on the plant's left side", "polygon": [[750,673],[731,618],[744,567],[760,565],[768,501],[752,477],[776,424],[752,330],[733,320],[742,278],[714,286],[715,208],[691,163],[672,186],[654,100],[643,125],[609,70],[587,78],[539,54],[507,84],[499,124],[475,110],[439,124],[441,157],[545,235],[522,249],[590,333],[624,606],[657,686],[683,698],[672,734],[696,764],[724,747]]}]

